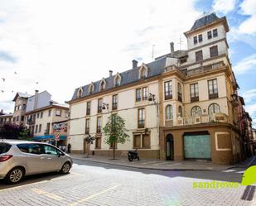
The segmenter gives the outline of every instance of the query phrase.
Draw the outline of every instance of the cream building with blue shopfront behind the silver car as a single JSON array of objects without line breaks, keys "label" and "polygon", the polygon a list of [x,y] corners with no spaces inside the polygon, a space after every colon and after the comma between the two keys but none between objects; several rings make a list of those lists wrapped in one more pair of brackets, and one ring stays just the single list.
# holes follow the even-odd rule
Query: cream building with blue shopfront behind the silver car
[{"label": "cream building with blue shopfront behind the silver car", "polygon": [[[36,141],[55,141],[60,137],[59,143],[65,144],[67,125],[61,124],[61,130],[54,128],[60,122],[67,122],[69,119],[69,108],[65,104],[51,101],[51,94],[44,91],[28,98],[26,127],[29,128],[30,136]],[[65,127],[64,127],[65,126]]]}]

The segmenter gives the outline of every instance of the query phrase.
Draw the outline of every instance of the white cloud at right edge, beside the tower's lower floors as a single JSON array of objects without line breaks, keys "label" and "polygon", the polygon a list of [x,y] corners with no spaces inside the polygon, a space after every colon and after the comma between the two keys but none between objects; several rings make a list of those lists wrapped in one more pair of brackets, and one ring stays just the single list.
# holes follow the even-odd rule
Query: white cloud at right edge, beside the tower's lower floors
[{"label": "white cloud at right edge, beside the tower's lower floors", "polygon": [[235,74],[243,74],[249,70],[256,69],[256,54],[249,55],[240,60],[237,65],[234,66]]}]

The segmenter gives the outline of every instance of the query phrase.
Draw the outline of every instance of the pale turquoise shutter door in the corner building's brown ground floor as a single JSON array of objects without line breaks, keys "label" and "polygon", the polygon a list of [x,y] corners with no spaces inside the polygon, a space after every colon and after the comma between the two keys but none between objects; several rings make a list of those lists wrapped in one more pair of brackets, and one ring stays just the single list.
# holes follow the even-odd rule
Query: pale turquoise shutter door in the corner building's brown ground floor
[{"label": "pale turquoise shutter door in the corner building's brown ground floor", "polygon": [[211,159],[210,135],[185,134],[184,155],[186,159]]}]

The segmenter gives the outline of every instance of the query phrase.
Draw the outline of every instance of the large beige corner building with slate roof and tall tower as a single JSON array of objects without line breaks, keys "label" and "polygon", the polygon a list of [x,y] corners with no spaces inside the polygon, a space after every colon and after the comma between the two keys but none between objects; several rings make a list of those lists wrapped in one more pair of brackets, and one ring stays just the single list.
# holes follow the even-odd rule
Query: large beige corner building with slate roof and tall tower
[{"label": "large beige corner building with slate roof and tall tower", "polygon": [[229,62],[225,17],[196,20],[184,34],[187,50],[174,50],[148,64],[75,89],[70,100],[72,152],[85,153],[85,137],[95,137],[94,155],[111,155],[102,127],[111,113],[125,119],[130,141],[117,155],[138,149],[141,158],[241,160],[238,84]]}]

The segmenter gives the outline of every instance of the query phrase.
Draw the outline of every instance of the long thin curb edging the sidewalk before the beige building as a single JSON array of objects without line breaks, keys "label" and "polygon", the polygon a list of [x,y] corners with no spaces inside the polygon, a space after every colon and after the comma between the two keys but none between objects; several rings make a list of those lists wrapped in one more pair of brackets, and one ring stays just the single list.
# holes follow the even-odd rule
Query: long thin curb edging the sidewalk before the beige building
[{"label": "long thin curb edging the sidewalk before the beige building", "polygon": [[143,167],[143,166],[135,166],[135,165],[120,165],[120,164],[114,164],[111,162],[104,162],[104,161],[97,161],[97,160],[86,160],[82,158],[72,157],[74,160],[85,160],[85,161],[91,161],[95,163],[101,163],[106,165],[118,165],[123,167],[130,167],[130,168],[136,168],[136,169],[142,169],[142,170],[162,170],[162,171],[221,171],[221,170],[207,170],[207,169],[167,169],[167,168],[155,168],[155,167]]}]

